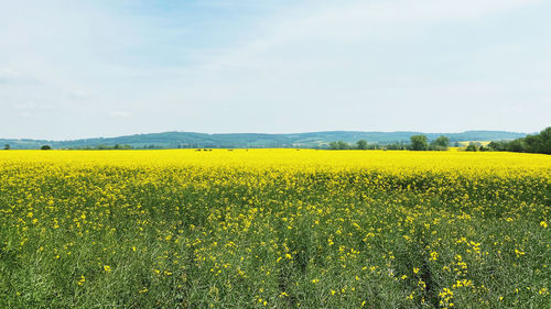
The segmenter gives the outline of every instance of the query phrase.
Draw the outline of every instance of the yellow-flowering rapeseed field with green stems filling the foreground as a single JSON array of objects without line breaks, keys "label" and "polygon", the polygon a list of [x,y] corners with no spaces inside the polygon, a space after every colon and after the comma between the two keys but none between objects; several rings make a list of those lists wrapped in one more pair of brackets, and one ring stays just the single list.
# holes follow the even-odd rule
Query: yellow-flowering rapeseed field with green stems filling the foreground
[{"label": "yellow-flowering rapeseed field with green stems filling the foreground", "polygon": [[551,156],[0,152],[0,308],[549,308]]}]

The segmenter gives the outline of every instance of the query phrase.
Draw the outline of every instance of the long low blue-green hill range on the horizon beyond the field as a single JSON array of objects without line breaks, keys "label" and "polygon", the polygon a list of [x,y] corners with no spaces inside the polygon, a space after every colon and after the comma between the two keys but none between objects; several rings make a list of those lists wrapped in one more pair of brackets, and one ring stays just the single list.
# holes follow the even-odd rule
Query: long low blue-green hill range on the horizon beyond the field
[{"label": "long low blue-green hill range on the horizon beyond the field", "polygon": [[445,135],[452,144],[466,141],[500,141],[525,137],[526,133],[505,131],[465,131],[463,133],[422,133],[422,132],[360,132],[360,131],[327,131],[292,134],[261,134],[261,133],[227,133],[206,134],[195,132],[164,132],[136,134],[118,137],[97,137],[74,141],[45,140],[8,140],[0,139],[0,147],[10,144],[13,150],[36,150],[42,145],[53,148],[86,148],[99,145],[115,146],[130,145],[133,148],[264,148],[264,147],[311,147],[324,148],[333,141],[355,143],[366,140],[369,143],[390,144],[409,143],[410,136],[424,134],[429,140]]}]

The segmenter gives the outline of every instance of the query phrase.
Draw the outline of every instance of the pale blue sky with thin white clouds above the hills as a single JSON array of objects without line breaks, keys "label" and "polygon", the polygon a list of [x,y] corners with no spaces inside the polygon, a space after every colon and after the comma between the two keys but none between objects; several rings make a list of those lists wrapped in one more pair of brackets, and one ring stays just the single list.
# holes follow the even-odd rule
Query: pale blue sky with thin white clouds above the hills
[{"label": "pale blue sky with thin white clouds above the hills", "polygon": [[0,137],[538,132],[548,0],[0,0]]}]

